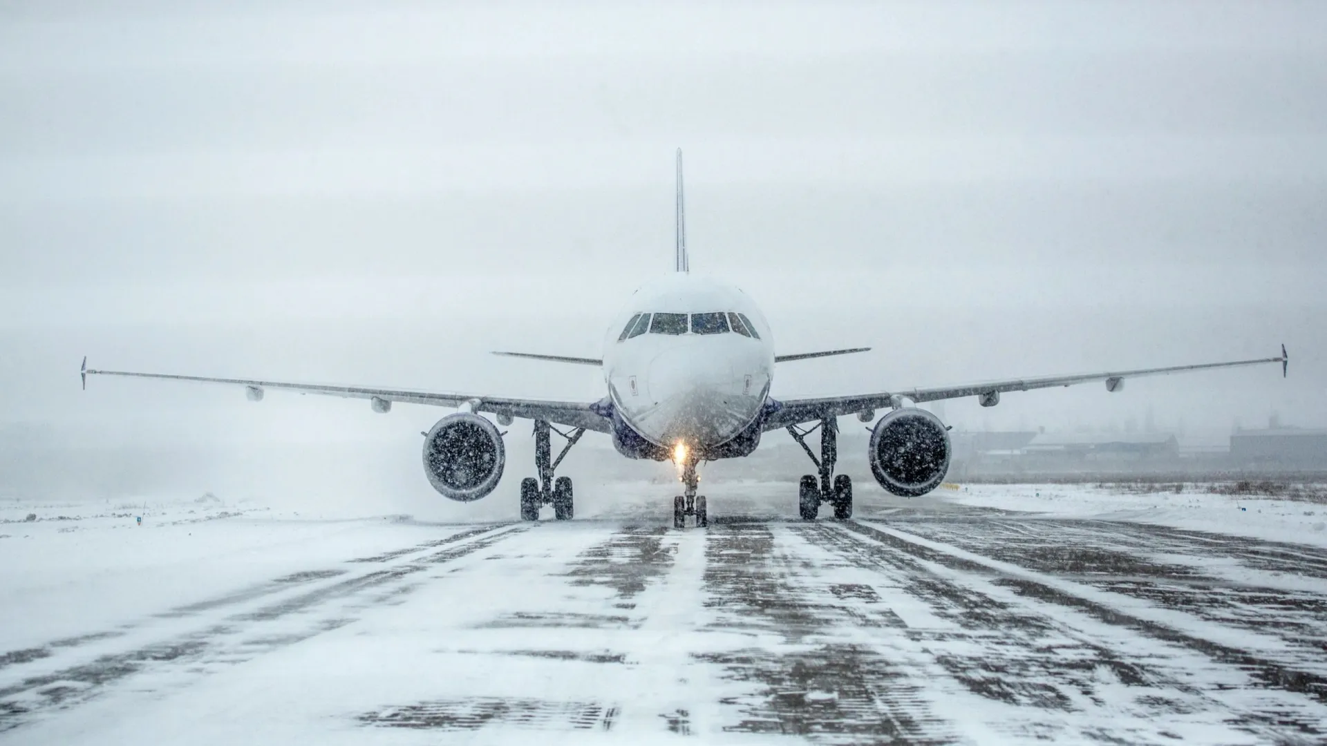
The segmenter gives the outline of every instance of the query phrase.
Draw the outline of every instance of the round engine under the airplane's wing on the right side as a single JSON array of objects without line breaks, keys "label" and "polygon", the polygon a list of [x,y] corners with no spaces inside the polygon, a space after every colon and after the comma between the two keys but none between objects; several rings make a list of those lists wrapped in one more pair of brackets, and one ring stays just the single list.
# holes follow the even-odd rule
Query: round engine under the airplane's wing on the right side
[{"label": "round engine under the airplane's wing on the right side", "polygon": [[934,490],[949,473],[949,430],[925,409],[896,409],[871,431],[871,473],[890,492],[916,498]]}]

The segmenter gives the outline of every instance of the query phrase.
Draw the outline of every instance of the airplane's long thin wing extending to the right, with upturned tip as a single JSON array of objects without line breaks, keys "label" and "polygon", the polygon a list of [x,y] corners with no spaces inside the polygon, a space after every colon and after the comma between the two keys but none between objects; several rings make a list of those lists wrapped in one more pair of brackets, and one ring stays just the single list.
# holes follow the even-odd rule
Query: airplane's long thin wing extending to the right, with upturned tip
[{"label": "airplane's long thin wing extending to the right, with upturned tip", "polygon": [[1005,392],[1030,392],[1032,389],[1048,389],[1052,386],[1072,386],[1075,384],[1088,384],[1104,381],[1108,392],[1117,392],[1123,388],[1125,378],[1141,376],[1165,376],[1169,373],[1188,373],[1190,370],[1208,370],[1212,368],[1239,368],[1245,365],[1263,365],[1279,362],[1282,376],[1290,365],[1286,354],[1286,345],[1281,345],[1281,357],[1263,357],[1259,360],[1237,360],[1233,362],[1205,362],[1200,365],[1174,365],[1170,368],[1144,368],[1141,370],[1116,370],[1108,373],[1079,373],[1071,376],[1042,376],[1038,378],[1019,378],[1011,381],[986,381],[981,384],[965,384],[959,386],[945,386],[937,389],[900,389],[896,392],[880,392],[873,394],[856,394],[845,397],[821,397],[786,400],[764,421],[766,430],[778,430],[788,425],[809,422],[825,417],[856,414],[874,409],[893,406],[898,398],[909,400],[913,404],[928,401],[953,400],[962,397],[979,397],[986,406],[994,406],[999,401],[999,394]]}]

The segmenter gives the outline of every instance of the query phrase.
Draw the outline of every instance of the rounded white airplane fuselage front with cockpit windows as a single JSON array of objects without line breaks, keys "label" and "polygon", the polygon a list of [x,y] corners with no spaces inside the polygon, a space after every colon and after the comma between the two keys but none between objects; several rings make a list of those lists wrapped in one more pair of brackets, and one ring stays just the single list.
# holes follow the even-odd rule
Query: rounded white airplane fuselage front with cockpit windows
[{"label": "rounded white airplane fuselage front with cockpit windows", "polygon": [[774,377],[774,340],[739,288],[679,272],[632,295],[602,360],[622,422],[678,459],[711,453],[756,425]]}]

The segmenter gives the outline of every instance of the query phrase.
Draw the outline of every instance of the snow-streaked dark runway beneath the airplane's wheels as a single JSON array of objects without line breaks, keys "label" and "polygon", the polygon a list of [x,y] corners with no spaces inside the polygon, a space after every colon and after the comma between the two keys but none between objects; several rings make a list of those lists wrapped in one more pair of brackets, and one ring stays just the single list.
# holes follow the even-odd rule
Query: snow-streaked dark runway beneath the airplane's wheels
[{"label": "snow-streaked dark runway beneath the airplane's wheels", "polygon": [[33,591],[89,601],[88,627],[0,650],[0,742],[1327,739],[1327,550],[926,500],[804,523],[711,499],[711,527],[685,531],[665,500],[299,536],[182,522],[280,535],[288,567],[163,591],[119,623],[86,591]]}]

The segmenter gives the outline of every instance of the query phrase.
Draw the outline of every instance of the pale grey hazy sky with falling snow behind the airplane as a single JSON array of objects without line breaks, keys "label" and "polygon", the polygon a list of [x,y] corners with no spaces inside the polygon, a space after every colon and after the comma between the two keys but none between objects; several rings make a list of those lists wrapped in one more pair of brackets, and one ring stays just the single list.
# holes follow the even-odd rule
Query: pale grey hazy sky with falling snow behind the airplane
[{"label": "pale grey hazy sky with falling snow behind the airplane", "polygon": [[[487,352],[598,354],[612,312],[671,268],[678,146],[693,271],[762,303],[782,353],[874,348],[782,365],[776,397],[1285,341],[1286,381],[945,417],[1324,426],[1323,28],[1320,3],[5,3],[0,488],[472,515],[421,473],[418,433],[446,410],[82,393],[78,361],[598,398],[597,370]],[[494,510],[532,471],[527,430]],[[564,467],[577,490],[608,479],[591,461]]]}]

